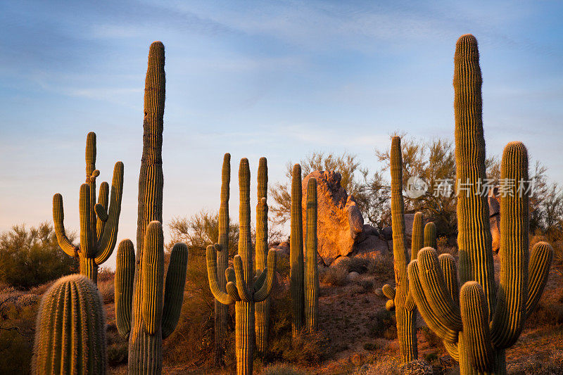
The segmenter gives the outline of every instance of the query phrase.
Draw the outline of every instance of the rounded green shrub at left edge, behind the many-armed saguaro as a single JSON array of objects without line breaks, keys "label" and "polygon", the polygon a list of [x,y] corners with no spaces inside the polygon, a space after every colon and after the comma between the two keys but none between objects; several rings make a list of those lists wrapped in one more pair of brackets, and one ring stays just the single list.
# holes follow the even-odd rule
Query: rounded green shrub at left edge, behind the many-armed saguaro
[{"label": "rounded green shrub at left edge, behind the many-armed saguaro", "polygon": [[77,270],[75,258],[59,248],[51,224],[14,225],[0,234],[0,281],[6,284],[31,288]]}]

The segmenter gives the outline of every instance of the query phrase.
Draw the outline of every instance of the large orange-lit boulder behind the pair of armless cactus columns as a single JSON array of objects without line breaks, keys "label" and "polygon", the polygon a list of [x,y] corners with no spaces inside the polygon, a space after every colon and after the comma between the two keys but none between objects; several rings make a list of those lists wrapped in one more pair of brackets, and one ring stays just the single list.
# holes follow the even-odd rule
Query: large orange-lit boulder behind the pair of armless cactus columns
[{"label": "large orange-lit boulder behind the pair of armless cactus columns", "polygon": [[355,240],[362,233],[364,218],[353,196],[341,184],[341,175],[334,171],[315,171],[303,179],[303,235],[306,231],[307,184],[317,179],[317,242],[325,265],[353,251]]}]

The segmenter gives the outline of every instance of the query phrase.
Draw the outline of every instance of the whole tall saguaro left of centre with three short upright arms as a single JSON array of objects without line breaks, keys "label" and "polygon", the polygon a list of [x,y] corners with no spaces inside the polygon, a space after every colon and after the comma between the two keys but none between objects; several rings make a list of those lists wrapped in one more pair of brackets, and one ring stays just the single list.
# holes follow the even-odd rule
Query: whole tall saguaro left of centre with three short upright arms
[{"label": "whole tall saguaro left of centre with three short upright arms", "polygon": [[162,341],[174,331],[184,300],[188,248],[172,248],[164,284],[162,132],[164,46],[151,44],[145,82],[143,156],[139,174],[137,261],[129,239],[118,247],[115,316],[129,338],[129,374],[162,372]]}]

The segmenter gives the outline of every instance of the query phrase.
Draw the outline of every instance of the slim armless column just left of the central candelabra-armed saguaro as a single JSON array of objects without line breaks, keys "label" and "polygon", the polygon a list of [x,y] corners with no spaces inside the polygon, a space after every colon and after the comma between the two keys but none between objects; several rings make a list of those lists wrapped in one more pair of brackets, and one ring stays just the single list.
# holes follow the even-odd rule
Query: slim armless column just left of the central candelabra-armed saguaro
[{"label": "slim armless column just left of the central candelabra-armed saguaro", "polygon": [[[221,205],[219,208],[219,247],[217,248],[217,274],[224,274],[229,265],[229,184],[231,182],[231,154],[225,153],[221,173]],[[227,281],[220,277],[219,288],[225,291]],[[224,341],[227,337],[229,306],[215,298],[215,364],[221,363]]]}]

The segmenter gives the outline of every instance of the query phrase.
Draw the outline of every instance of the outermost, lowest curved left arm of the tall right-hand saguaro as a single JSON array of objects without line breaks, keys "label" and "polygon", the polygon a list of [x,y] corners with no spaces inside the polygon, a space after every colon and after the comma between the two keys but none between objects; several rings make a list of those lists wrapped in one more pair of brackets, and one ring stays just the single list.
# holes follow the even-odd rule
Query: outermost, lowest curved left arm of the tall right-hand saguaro
[{"label": "outermost, lowest curved left arm of the tall right-hand saguaro", "polygon": [[415,299],[418,310],[429,328],[442,340],[455,343],[457,341],[457,332],[459,330],[451,329],[445,325],[436,312],[434,312],[434,309],[426,296],[426,290],[422,287],[419,260],[413,260],[408,266],[410,293]]}]

